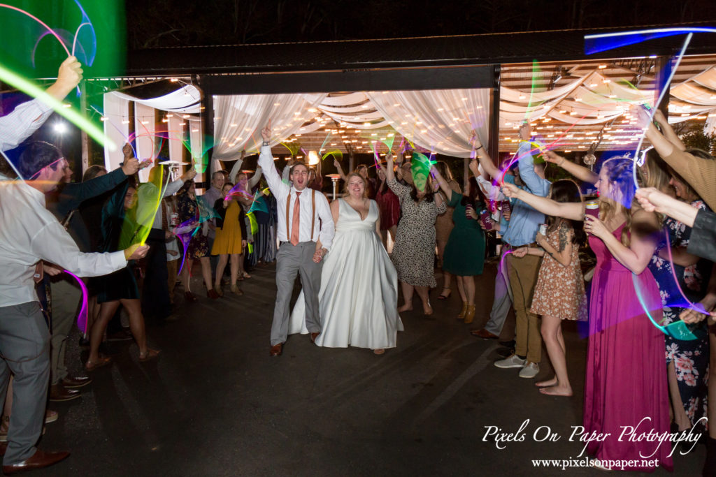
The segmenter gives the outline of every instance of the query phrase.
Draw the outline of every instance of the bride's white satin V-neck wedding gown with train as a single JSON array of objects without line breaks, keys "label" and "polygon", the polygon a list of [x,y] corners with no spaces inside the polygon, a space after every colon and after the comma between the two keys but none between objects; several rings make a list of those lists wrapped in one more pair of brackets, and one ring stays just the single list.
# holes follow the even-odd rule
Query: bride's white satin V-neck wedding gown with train
[{"label": "bride's white satin V-neck wedding gown with train", "polygon": [[[316,345],[328,348],[395,348],[403,330],[397,312],[398,277],[375,232],[379,209],[370,201],[365,220],[339,199],[336,235],[321,272],[321,334]],[[289,321],[289,334],[306,334],[304,292]]]}]

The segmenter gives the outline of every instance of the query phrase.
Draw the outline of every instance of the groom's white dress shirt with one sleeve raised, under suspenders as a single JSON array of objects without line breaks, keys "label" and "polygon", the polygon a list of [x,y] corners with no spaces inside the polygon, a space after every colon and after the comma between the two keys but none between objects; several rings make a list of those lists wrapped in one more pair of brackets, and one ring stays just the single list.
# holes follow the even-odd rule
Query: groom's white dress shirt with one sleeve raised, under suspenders
[{"label": "groom's white dress shirt with one sleeve raised, under suspenders", "polygon": [[[293,186],[284,184],[281,176],[274,165],[274,156],[271,154],[271,147],[261,147],[261,155],[258,156],[258,165],[263,169],[266,182],[269,183],[271,193],[276,197],[279,210],[278,237],[281,242],[291,240],[291,230],[286,230],[286,197],[289,199],[289,227],[293,222],[294,204],[296,203],[296,189]],[[299,242],[321,240],[321,246],[330,250],[335,234],[331,207],[328,205],[326,196],[316,191],[316,219],[313,220],[314,211],[311,208],[311,194],[313,190],[306,187],[301,191],[299,203],[301,204]],[[321,220],[319,220],[321,219]],[[314,230],[311,233],[311,220],[314,222]],[[312,235],[312,238],[311,238]]]}]

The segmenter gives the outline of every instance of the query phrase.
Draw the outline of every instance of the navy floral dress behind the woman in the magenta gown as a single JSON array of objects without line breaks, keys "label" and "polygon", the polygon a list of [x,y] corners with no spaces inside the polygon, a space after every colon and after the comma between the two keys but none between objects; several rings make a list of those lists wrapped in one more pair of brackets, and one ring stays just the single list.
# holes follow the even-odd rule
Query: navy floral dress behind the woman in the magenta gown
[{"label": "navy floral dress behind the woman in the magenta gown", "polygon": [[[692,207],[709,210],[702,200],[691,203]],[[664,228],[669,233],[669,242],[672,247],[686,248],[689,245],[691,227],[682,222],[667,217]],[[665,237],[663,237],[665,239]],[[666,240],[659,243],[659,249],[666,246]],[[687,306],[686,300],[679,292],[679,287],[692,303],[697,303],[706,294],[707,284],[711,274],[712,262],[699,260],[695,265],[682,267],[673,264],[667,259],[654,254],[649,263],[649,270],[659,285],[662,297],[664,321],[662,325],[669,325],[679,320],[679,315]],[[678,286],[674,282],[674,274],[679,280]],[[705,326],[706,321],[698,325]],[[681,395],[684,410],[691,423],[695,423],[706,415],[707,377],[709,368],[709,342],[707,333],[704,338],[697,340],[677,340],[666,335],[667,364],[674,363],[676,370],[679,394]]]}]

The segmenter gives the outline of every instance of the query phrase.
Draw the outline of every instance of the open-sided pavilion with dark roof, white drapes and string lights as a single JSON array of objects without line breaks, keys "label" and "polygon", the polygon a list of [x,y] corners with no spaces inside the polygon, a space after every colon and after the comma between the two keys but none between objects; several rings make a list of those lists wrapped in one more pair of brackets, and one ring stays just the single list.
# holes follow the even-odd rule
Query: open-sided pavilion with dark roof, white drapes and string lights
[{"label": "open-sided pavilion with dark roof, white drapes and string lights", "polygon": [[[629,107],[656,102],[684,35],[584,53],[585,35],[609,31],[133,51],[126,77],[113,79],[118,91],[105,94],[102,119],[117,142],[133,120],[142,159],[158,149],[154,134],[168,131],[170,159],[208,149],[213,168],[242,149],[256,152],[269,119],[275,155],[316,152],[315,162],[339,151],[349,168],[354,154],[379,157],[403,137],[425,152],[468,157],[473,129],[496,158],[516,150],[526,119],[566,152],[633,150],[639,134]],[[706,132],[716,124],[711,35],[695,35],[660,104],[669,122],[701,121]],[[107,165],[120,155],[106,151]]]}]

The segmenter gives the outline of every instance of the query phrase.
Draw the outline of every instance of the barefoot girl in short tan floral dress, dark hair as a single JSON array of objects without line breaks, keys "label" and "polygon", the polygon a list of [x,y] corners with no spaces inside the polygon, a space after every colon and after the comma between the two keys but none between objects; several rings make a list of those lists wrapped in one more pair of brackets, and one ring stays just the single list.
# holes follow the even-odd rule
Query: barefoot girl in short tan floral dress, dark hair
[{"label": "barefoot girl in short tan floral dress, dark hair", "polygon": [[[571,180],[554,182],[549,197],[556,202],[581,202],[579,187]],[[562,320],[586,320],[584,277],[579,266],[579,244],[584,242],[582,222],[548,217],[547,235],[537,234],[541,248],[521,247],[513,253],[543,256],[533,292],[531,312],[542,315],[542,338],[552,362],[554,378],[535,385],[548,395],[571,396],[567,377]]]}]

